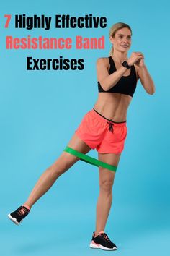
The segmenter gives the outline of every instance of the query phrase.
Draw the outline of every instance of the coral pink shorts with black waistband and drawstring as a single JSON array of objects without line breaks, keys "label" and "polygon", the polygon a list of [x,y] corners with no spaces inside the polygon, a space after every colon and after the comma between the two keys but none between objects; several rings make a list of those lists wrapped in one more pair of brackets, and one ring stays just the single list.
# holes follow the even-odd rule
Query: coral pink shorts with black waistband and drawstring
[{"label": "coral pink shorts with black waistband and drawstring", "polygon": [[75,132],[89,148],[96,148],[99,153],[119,154],[124,148],[127,126],[126,121],[114,122],[93,108],[84,115]]}]

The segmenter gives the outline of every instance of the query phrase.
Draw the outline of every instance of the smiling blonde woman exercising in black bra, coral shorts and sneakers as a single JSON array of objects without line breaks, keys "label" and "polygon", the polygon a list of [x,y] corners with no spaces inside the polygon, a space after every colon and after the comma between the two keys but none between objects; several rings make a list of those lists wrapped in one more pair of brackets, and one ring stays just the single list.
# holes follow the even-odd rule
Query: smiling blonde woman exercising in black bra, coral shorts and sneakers
[{"label": "smiling blonde woman exercising in black bra, coral shorts and sneakers", "polygon": [[[109,58],[97,60],[97,80],[99,97],[88,113],[85,114],[78,129],[68,143],[68,147],[81,153],[96,148],[99,161],[118,166],[120,155],[127,136],[126,118],[128,106],[133,98],[136,84],[140,79],[148,94],[155,92],[153,80],[144,63],[141,52],[133,52],[128,58],[132,30],[125,23],[116,23],[109,32],[112,50]],[[50,189],[56,179],[78,161],[75,155],[63,152],[35,184],[27,201],[9,218],[19,223],[30,213],[35,202]],[[112,185],[115,172],[99,167],[99,198],[97,202],[97,221],[90,243],[92,248],[105,250],[117,249],[104,232],[109,210],[112,205]]]}]

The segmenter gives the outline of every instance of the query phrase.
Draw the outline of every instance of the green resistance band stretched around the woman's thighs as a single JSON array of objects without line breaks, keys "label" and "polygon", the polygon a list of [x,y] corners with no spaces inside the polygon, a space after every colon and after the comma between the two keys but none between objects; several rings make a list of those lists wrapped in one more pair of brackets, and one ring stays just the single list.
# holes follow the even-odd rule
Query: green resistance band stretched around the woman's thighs
[{"label": "green resistance band stretched around the woman's thighs", "polygon": [[90,163],[93,166],[97,166],[97,167],[101,166],[103,168],[107,168],[109,171],[116,171],[116,169],[117,169],[117,166],[112,166],[111,164],[104,163],[102,161],[97,160],[96,158],[91,158],[91,156],[80,153],[79,151],[74,150],[73,148],[66,147],[64,151],[77,156],[78,158],[80,158],[81,161]]}]

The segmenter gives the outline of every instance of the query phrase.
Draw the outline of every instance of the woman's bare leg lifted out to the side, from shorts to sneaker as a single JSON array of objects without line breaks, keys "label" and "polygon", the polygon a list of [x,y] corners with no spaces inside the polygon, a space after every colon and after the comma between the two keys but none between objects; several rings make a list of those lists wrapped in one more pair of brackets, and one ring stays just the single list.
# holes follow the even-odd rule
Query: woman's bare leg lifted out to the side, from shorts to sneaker
[{"label": "woman's bare leg lifted out to the side, from shorts to sneaker", "polygon": [[[89,148],[86,143],[81,140],[76,133],[71,138],[70,142],[68,142],[68,147],[71,147],[75,150],[78,150],[81,153],[88,153],[91,148]],[[61,156],[52,164],[46,171],[40,176],[35,187],[32,189],[30,196],[28,197],[27,201],[24,202],[24,205],[28,205],[30,208],[35,202],[45,194],[45,192],[50,189],[50,187],[54,184],[56,179],[58,179],[61,174],[67,171],[74,163],[79,160],[74,155],[70,153],[63,152]]]}]

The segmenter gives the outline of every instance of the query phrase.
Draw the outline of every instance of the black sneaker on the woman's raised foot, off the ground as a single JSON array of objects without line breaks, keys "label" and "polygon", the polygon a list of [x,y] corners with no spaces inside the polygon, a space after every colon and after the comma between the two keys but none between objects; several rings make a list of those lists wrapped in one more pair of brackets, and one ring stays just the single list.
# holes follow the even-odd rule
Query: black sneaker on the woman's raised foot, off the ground
[{"label": "black sneaker on the woman's raised foot, off the ground", "polygon": [[23,221],[23,218],[28,215],[28,213],[30,213],[30,210],[22,205],[14,212],[9,213],[8,217],[15,224],[19,225]]}]

